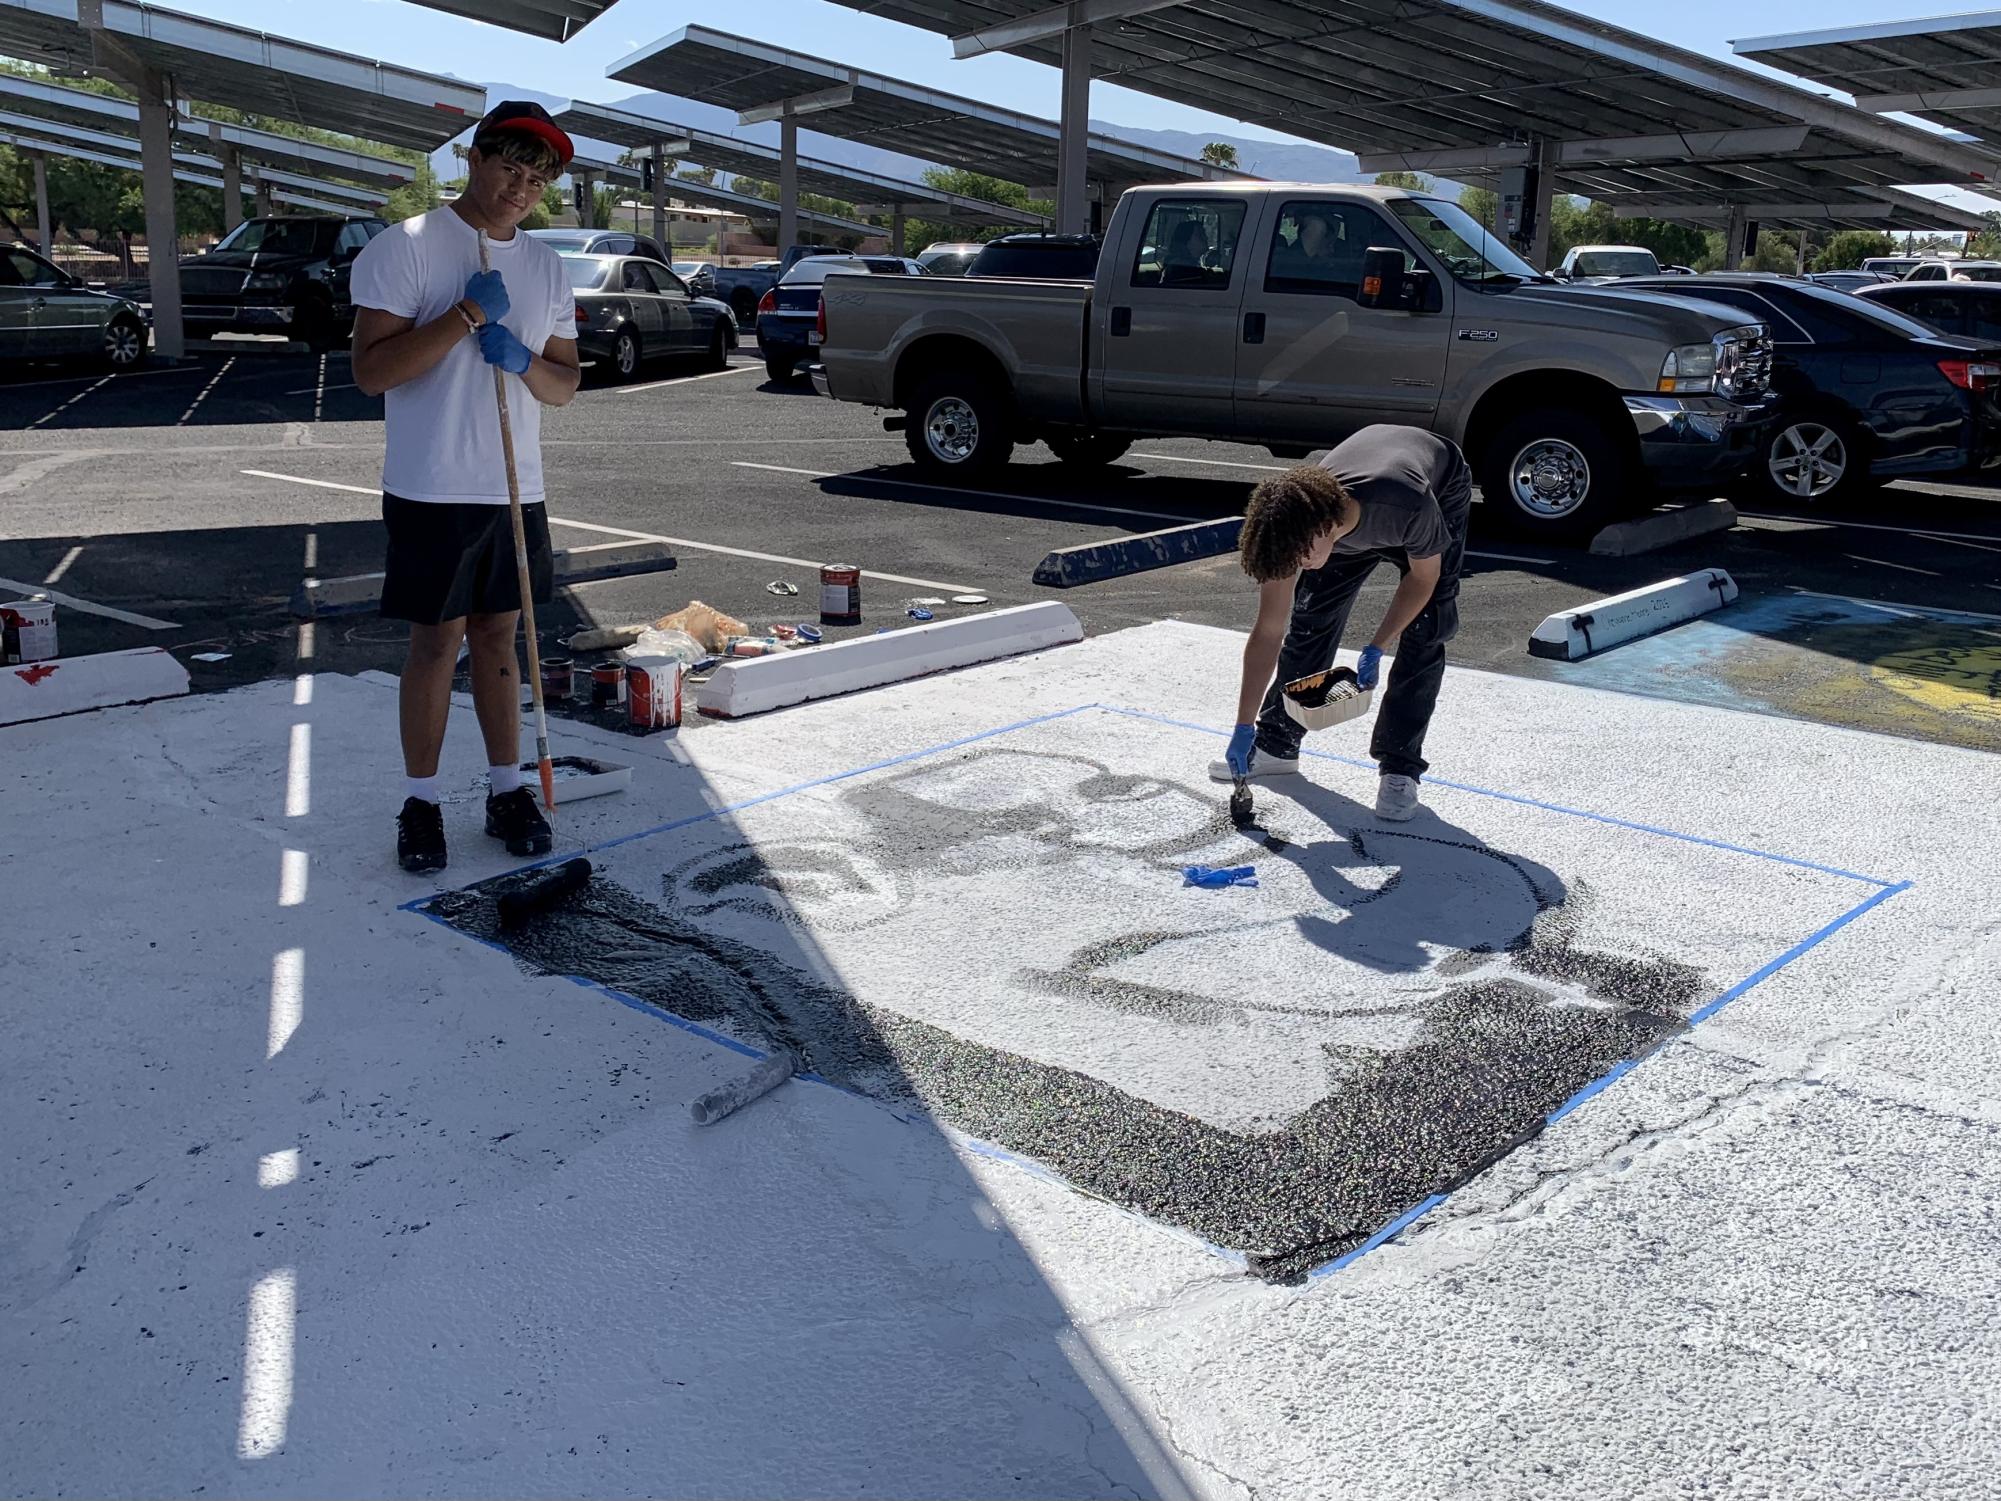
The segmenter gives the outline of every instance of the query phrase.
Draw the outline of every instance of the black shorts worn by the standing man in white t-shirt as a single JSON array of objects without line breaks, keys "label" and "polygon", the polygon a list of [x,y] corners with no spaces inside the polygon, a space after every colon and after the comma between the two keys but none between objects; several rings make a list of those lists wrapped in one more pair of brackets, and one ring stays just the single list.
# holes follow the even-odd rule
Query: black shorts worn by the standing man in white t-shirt
[{"label": "black shorts worn by the standing man in white t-shirt", "polygon": [[[528,532],[528,582],[534,602],[556,592],[548,552],[548,510],[520,508]],[[382,496],[388,560],[382,564],[382,616],[412,624],[442,624],[462,614],[506,614],[520,608],[514,570],[514,522],[506,506],[458,500]]]}]

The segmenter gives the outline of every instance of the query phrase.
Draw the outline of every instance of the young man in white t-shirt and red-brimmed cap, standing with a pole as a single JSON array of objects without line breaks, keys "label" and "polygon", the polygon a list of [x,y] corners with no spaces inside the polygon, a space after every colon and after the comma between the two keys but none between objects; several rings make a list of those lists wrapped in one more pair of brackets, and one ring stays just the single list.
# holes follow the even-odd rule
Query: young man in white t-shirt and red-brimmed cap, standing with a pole
[{"label": "young man in white t-shirt and red-brimmed cap, standing with a pole", "polygon": [[[354,260],[354,384],[384,394],[382,614],[410,622],[402,668],[396,817],[404,871],[444,869],[438,753],[458,644],[486,740],[486,833],[510,855],[548,853],[548,821],[520,777],[520,582],[490,366],[506,372],[514,472],[536,602],[554,592],[542,506],[542,406],[576,394],[576,298],[562,260],[520,220],[570,164],[540,104],[498,104],[472,132],[456,202],[390,224]],[[492,270],[480,270],[480,236]],[[528,670],[534,670],[528,642]]]}]

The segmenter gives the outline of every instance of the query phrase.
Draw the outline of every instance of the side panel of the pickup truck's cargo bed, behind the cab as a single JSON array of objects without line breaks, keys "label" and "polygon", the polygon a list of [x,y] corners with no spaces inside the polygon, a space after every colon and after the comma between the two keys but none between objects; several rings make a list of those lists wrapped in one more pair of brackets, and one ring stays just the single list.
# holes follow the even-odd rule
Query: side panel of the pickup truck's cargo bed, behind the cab
[{"label": "side panel of the pickup truck's cargo bed, behind the cab", "polygon": [[842,276],[826,280],[826,386],[836,400],[898,404],[932,362],[962,368],[984,352],[1029,420],[1083,426],[1091,286],[998,276]]}]

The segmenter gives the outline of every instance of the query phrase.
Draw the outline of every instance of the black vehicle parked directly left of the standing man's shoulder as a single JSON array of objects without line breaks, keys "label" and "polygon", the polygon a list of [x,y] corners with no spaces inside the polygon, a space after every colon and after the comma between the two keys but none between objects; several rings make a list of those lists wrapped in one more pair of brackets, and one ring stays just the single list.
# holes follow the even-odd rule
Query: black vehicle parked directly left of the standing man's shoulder
[{"label": "black vehicle parked directly left of the standing man's shoulder", "polygon": [[188,338],[288,334],[314,350],[344,348],[354,334],[348,270],[386,228],[372,216],[246,218],[220,244],[180,262]]}]

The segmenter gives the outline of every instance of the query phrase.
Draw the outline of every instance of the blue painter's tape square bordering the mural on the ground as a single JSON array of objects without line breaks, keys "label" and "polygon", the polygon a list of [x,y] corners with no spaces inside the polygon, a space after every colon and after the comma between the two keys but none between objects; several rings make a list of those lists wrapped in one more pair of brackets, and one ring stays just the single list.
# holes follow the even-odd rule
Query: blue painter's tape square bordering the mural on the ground
[{"label": "blue painter's tape square bordering the mural on the ground", "polygon": [[[1139,720],[1147,720],[1147,722],[1153,722],[1153,724],[1167,724],[1169,728],[1179,728],[1179,730],[1193,730],[1197,734],[1209,734],[1209,736],[1215,736],[1219,740],[1229,738],[1227,730],[1219,730],[1213,724],[1195,724],[1191,720],[1171,718],[1167,714],[1153,714],[1153,712],[1147,712],[1143,708],[1123,708],[1119,704],[1101,704],[1101,702],[1073,704],[1071,708],[1059,708],[1059,710],[1049,712],[1049,714],[1037,714],[1033,718],[1021,718],[1021,720],[1015,720],[1013,724],[1000,724],[1000,726],[990,728],[990,730],[980,730],[978,734],[962,734],[956,740],[944,740],[942,744],[926,746],[922,750],[908,750],[904,755],[886,757],[882,761],[872,761],[872,763],[868,763],[864,767],[854,767],[850,771],[836,771],[836,773],[828,773],[826,777],[814,777],[814,779],[804,781],[804,783],[792,783],[790,787],[780,787],[780,789],[776,789],[772,793],[758,793],[756,797],[746,797],[746,799],[742,799],[738,803],[728,803],[728,805],[724,805],[720,809],[710,809],[706,813],[690,813],[690,815],[686,815],[682,819],[670,819],[668,823],[660,823],[660,825],[654,825],[650,829],[640,829],[640,831],[630,833],[630,835],[620,835],[618,839],[606,839],[606,841],[602,841],[598,845],[590,845],[588,849],[582,849],[582,851],[570,851],[570,853],[564,853],[564,855],[548,855],[546,859],[540,859],[540,861],[528,861],[526,865],[512,867],[508,871],[498,873],[496,877],[484,877],[482,883],[488,881],[488,879],[496,881],[496,879],[504,879],[504,877],[510,877],[510,875],[520,875],[524,871],[538,871],[538,869],[548,867],[548,865],[560,865],[564,861],[576,859],[578,855],[586,855],[588,857],[588,855],[596,855],[600,851],[618,849],[620,845],[632,845],[634,841],[652,839],[654,835],[672,833],[674,829],[686,829],[690,825],[708,823],[710,819],[722,819],[722,817],[732,815],[732,813],[742,813],[744,809],[754,809],[760,803],[772,803],[772,801],[776,801],[780,797],[792,797],[794,793],[808,793],[808,791],[812,791],[816,787],[830,787],[834,783],[846,783],[846,781],[852,781],[854,777],[866,777],[868,773],[886,771],[888,767],[902,767],[902,765],[908,765],[912,761],[924,761],[928,757],[936,757],[936,755],[942,755],[946,750],[958,750],[958,748],[968,746],[968,744],[978,744],[980,740],[994,740],[994,738],[998,738],[1003,734],[1015,734],[1017,730],[1035,728],[1039,724],[1053,724],[1055,720],[1073,718],[1077,714],[1085,714],[1085,712],[1091,712],[1091,710],[1099,710],[1099,712],[1105,712],[1105,714],[1117,714],[1117,716],[1123,716],[1123,718],[1139,718]],[[1335,763],[1341,763],[1345,767],[1363,767],[1363,769],[1375,771],[1375,763],[1373,761],[1363,761],[1363,759],[1357,759],[1357,757],[1341,757],[1341,755],[1335,755],[1331,750],[1311,750],[1311,748],[1301,746],[1301,755],[1309,755],[1309,757],[1313,757],[1317,761],[1335,761]],[[1755,969],[1751,975],[1747,975],[1745,979],[1737,981],[1737,985],[1733,985],[1731,989],[1723,991],[1723,995],[1719,995],[1715,1001],[1711,1001],[1709,1005],[1701,1007],[1699,1011],[1693,1011],[1689,1015],[1687,1023],[1685,1023],[1685,1031],[1683,1033],[1677,1033],[1675,1037],[1669,1037],[1669,1039],[1661,1041],[1657,1047],[1641,1053],[1639,1057],[1621,1059],[1611,1069],[1607,1069],[1603,1075],[1599,1075],[1589,1085],[1585,1085],[1583,1089],[1579,1089],[1575,1095],[1571,1095],[1567,1101],[1563,1101],[1563,1105],[1559,1105],[1555,1111],[1551,1111],[1549,1115],[1543,1117],[1543,1127],[1551,1127],[1557,1121],[1561,1121],[1563,1117],[1571,1115],[1585,1101],[1593,1099],[1595,1095],[1601,1095],[1605,1089],[1609,1089],[1611,1085],[1615,1085],[1619,1079],[1625,1079],[1639,1065],[1647,1063],[1651,1057],[1655,1057],[1657,1053],[1661,1053],[1663,1049],[1667,1049],[1671,1043],[1681,1041],[1683,1037],[1687,1037],[1687,1033],[1695,1031],[1695,1027],[1699,1027],[1701,1023],[1709,1021],[1711,1017],[1715,1017],[1731,1001],[1737,1001],[1739,997],[1747,995],[1757,985],[1769,981],[1773,975],[1777,975],[1781,969],[1785,969],[1787,965],[1791,965],[1795,959],[1799,959],[1801,955],[1817,949],[1827,939],[1835,937],[1849,923],[1855,923],[1857,919],[1861,919],[1869,911],[1873,911],[1873,909],[1881,907],[1883,903],[1887,903],[1891,897],[1897,897],[1897,895],[1901,895],[1905,891],[1911,891],[1911,887],[1913,887],[1911,881],[1885,881],[1883,877],[1869,877],[1869,875],[1861,875],[1857,871],[1843,871],[1837,865],[1821,865],[1817,861],[1803,861],[1803,859],[1795,859],[1791,855],[1775,855],[1771,851],[1751,849],[1749,845],[1733,845],[1733,843],[1723,841],[1723,839],[1705,839],[1701,835],[1683,835],[1683,833],[1677,833],[1673,829],[1661,829],[1659,825],[1635,823],[1631,819],[1615,819],[1615,817],[1611,817],[1607,813],[1591,813],[1589,809],[1569,809],[1569,807],[1565,807],[1561,803],[1543,803],[1539,799],[1521,797],[1517,793],[1499,793],[1499,791],[1495,791],[1491,787],[1475,787],[1471,783],[1455,783],[1455,781],[1447,781],[1443,777],[1431,777],[1429,783],[1433,787],[1447,787],[1447,789],[1451,789],[1455,793],[1471,793],[1473,797],[1491,797],[1491,799],[1495,799],[1499,803],[1515,803],[1517,807],[1539,809],[1543,813],[1561,813],[1561,815],[1571,817],[1571,819],[1587,819],[1591,823],[1609,825],[1613,829],[1627,829],[1627,831],[1637,833],[1637,835],[1651,835],[1655,839],[1673,839],[1673,841],[1683,843],[1683,845],[1699,845],[1703,849],[1717,849],[1717,851],[1725,851],[1729,855],[1747,855],[1747,857],[1757,859],[1757,861],[1771,861],[1773,865],[1789,865],[1789,867],[1795,867],[1795,869],[1801,869],[1801,871],[1815,871],[1819,875],[1831,875],[1831,877],[1839,877],[1843,881],[1859,881],[1865,887],[1875,887],[1875,891],[1869,897],[1865,897],[1861,903],[1857,903],[1855,907],[1851,907],[1847,913],[1841,913],[1839,917],[1835,917],[1833,921],[1825,923],[1815,933],[1809,933],[1805,939],[1801,939],[1799,943],[1795,943],[1791,949],[1787,949],[1785,953],[1781,953],[1777,959],[1767,961],[1765,965],[1761,965],[1759,969]],[[434,893],[430,893],[426,897],[412,897],[410,901],[400,903],[396,907],[396,911],[400,911],[400,913],[416,913],[418,917],[424,917],[424,919],[436,923],[438,927],[442,927],[442,929],[458,935],[460,939],[470,939],[472,943],[478,943],[478,945],[484,945],[488,949],[494,949],[496,953],[508,955],[510,959],[514,957],[514,951],[508,949],[506,945],[494,943],[492,939],[480,939],[480,937],[476,937],[472,933],[466,933],[460,927],[454,927],[452,923],[448,923],[446,919],[438,917],[436,913],[422,911],[424,907],[428,907],[430,903],[434,903],[442,895],[444,895],[442,891],[434,891]],[[592,981],[592,979],[584,979],[580,975],[564,975],[562,979],[566,979],[572,985],[578,985],[578,987],[582,987],[586,991],[596,991],[600,995],[608,995],[612,1001],[616,1001],[622,1007],[630,1007],[632,1011],[638,1011],[644,1017],[652,1017],[654,1021],[664,1021],[670,1027],[678,1027],[684,1033],[692,1033],[694,1037],[700,1037],[706,1043],[714,1043],[714,1045],[718,1045],[722,1049],[728,1049],[730,1053],[738,1053],[738,1055],[742,1055],[746,1059],[758,1059],[758,1061],[762,1061],[764,1057],[768,1057],[766,1053],[760,1053],[758,1049],[750,1047],[748,1043],[740,1043],[734,1037],[718,1033],[712,1027],[704,1027],[704,1025],[700,1025],[696,1021],[690,1021],[686,1017],[678,1017],[672,1011],[666,1011],[664,1007],[656,1007],[656,1005],[652,1005],[648,1001],[640,1001],[636,995],[628,995],[624,991],[616,991],[616,989],[612,989],[608,985],[602,985],[602,983]],[[1173,1235],[1177,1235],[1181,1239],[1195,1241],[1197,1245],[1201,1245],[1209,1253],[1221,1257],[1223,1261],[1229,1261],[1229,1263],[1233,1263],[1237,1267],[1245,1267],[1247,1265],[1247,1257],[1241,1251],[1231,1251],[1229,1247],[1221,1247],[1221,1245],[1215,1245],[1213,1241],[1205,1241],[1203,1237],[1193,1235],[1191,1231],[1187,1231],[1187,1229],[1183,1229],[1179,1225],[1163,1225],[1161,1221],[1147,1219],[1145,1215],[1141,1215],[1141,1213],[1137,1213],[1133,1209],[1127,1209],[1125,1205],[1113,1205],[1109,1199],[1101,1199],[1099,1195],[1093,1195],[1093,1193],[1081,1189],[1079,1185],[1071,1183],[1069,1179],[1065,1179],[1061,1173],[1057,1173],[1055,1169],[1047,1167],[1045,1163],[1039,1163],[1033,1157],[1023,1157],[1021,1153],[1015,1153],[1015,1151],[1011,1151],[1011,1149],[1007,1149],[1007,1147],[1003,1147],[998,1143],[986,1141],[984,1137],[972,1137],[972,1135],[968,1135],[964,1131],[958,1131],[956,1127],[950,1127],[944,1121],[936,1121],[934,1117],[930,1117],[928,1111],[902,1113],[902,1111],[896,1111],[894,1107],[884,1105],[878,1099],[872,1099],[868,1095],[860,1095],[860,1093],[848,1089],[846,1085],[836,1085],[830,1079],[822,1079],[820,1075],[802,1073],[802,1075],[798,1075],[798,1079],[802,1083],[822,1085],[826,1089],[838,1091],[842,1095],[848,1095],[850,1099],[866,1101],[868,1105],[874,1105],[876,1109],[886,1111],[888,1115],[892,1115],[892,1117],[896,1117],[898,1121],[904,1121],[904,1123],[912,1123],[912,1121],[920,1121],[920,1119],[932,1121],[934,1125],[948,1129],[958,1141],[966,1143],[972,1149],[972,1153],[978,1155],[978,1157],[986,1157],[990,1161],[998,1161],[998,1163],[1009,1163],[1013,1167],[1021,1167],[1023,1171],[1027,1171],[1033,1177],[1039,1177],[1039,1179],[1043,1179],[1047,1183],[1061,1183],[1063,1187],[1071,1189],[1073,1193],[1079,1193],[1079,1195],[1083,1195],[1087,1199],[1093,1199],[1097,1203],[1111,1205],[1113,1209],[1119,1209],[1121,1213],[1125,1213],[1125,1215],[1129,1215],[1133,1219],[1141,1219],[1147,1225],[1153,1225],[1157,1229],[1165,1229],[1165,1231],[1169,1231],[1169,1233],[1173,1233]],[[1517,1143],[1513,1143],[1509,1147],[1509,1153],[1513,1153],[1517,1147],[1521,1147],[1525,1141],[1529,1141],[1529,1137],[1541,1135],[1543,1127],[1535,1127],[1531,1133],[1525,1133]],[[1499,1159],[1495,1159],[1495,1161],[1499,1161]],[[1483,1167],[1477,1169],[1477,1173],[1485,1171],[1487,1167],[1493,1167],[1493,1161],[1483,1163]],[[1403,1235],[1407,1229],[1411,1229],[1413,1225],[1417,1225],[1419,1221],[1423,1221],[1427,1215],[1431,1215],[1431,1211],[1435,1211],[1443,1203],[1447,1203],[1451,1199],[1451,1195],[1459,1191],[1459,1187],[1465,1187],[1465,1185],[1463,1183],[1455,1185],[1453,1189],[1447,1189],[1445,1193],[1435,1193],[1435,1195],[1419,1201],[1411,1209],[1407,1209],[1401,1215],[1397,1215],[1395,1219],[1391,1219],[1387,1225],[1383,1225],[1379,1231],[1375,1231],[1375,1235],[1371,1235],[1367,1241],[1363,1241],[1355,1249],[1343,1251],[1333,1261],[1327,1261],[1327,1263],[1311,1269],[1307,1273],[1307,1281],[1321,1281],[1325,1277],[1331,1277],[1337,1271],[1341,1271],[1343,1267],[1347,1267],[1349,1263],[1357,1261],[1359,1257],[1365,1257],[1371,1251],[1377,1251],[1379,1247],[1389,1245],[1399,1235]]]}]

